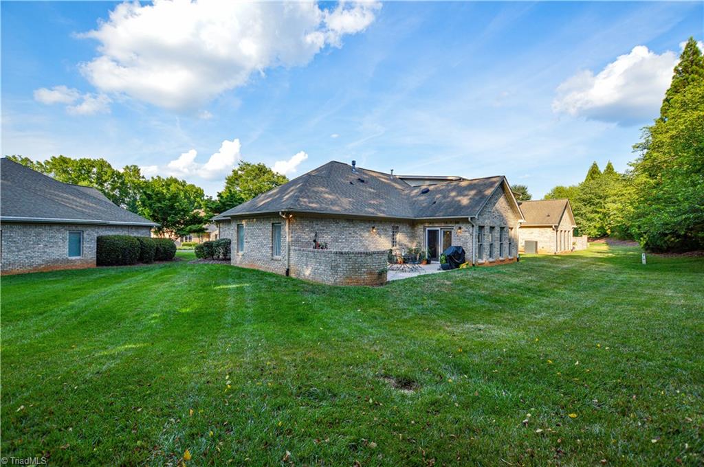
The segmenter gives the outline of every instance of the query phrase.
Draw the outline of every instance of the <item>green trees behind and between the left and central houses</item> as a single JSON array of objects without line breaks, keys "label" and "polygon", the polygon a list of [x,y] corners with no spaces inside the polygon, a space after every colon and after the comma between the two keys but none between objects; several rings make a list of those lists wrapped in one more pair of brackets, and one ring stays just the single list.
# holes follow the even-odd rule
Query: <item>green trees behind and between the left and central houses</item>
[{"label": "green trees behind and between the left and central houses", "polygon": [[65,155],[44,161],[21,155],[8,159],[64,183],[97,188],[116,205],[160,224],[157,233],[171,238],[201,233],[214,215],[289,181],[262,163],[241,161],[213,198],[206,196],[203,188],[176,177],[146,179],[137,165],[115,169],[105,159]]}]

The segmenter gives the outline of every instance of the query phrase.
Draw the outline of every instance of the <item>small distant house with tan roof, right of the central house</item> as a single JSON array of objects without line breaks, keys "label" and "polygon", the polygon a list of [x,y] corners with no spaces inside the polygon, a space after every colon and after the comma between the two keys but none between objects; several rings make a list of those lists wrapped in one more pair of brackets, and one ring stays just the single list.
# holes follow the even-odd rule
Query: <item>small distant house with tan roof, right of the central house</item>
[{"label": "small distant house with tan roof, right of the central house", "polygon": [[[560,253],[572,251],[573,229],[577,227],[568,200],[524,201],[520,203],[525,222],[518,229],[521,252]],[[529,243],[526,249],[526,241]],[[536,246],[536,251],[533,248]]]}]

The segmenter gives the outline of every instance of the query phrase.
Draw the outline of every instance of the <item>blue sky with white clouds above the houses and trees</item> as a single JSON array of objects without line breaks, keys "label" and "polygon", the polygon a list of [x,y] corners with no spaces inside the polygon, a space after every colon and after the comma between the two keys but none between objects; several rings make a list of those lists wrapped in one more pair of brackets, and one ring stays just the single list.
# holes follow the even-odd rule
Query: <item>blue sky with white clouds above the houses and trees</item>
[{"label": "blue sky with white clouds above the houses and trees", "polygon": [[209,194],[240,159],[289,177],[356,159],[541,197],[593,160],[627,168],[704,29],[701,2],[219,8],[3,2],[3,155],[101,157]]}]

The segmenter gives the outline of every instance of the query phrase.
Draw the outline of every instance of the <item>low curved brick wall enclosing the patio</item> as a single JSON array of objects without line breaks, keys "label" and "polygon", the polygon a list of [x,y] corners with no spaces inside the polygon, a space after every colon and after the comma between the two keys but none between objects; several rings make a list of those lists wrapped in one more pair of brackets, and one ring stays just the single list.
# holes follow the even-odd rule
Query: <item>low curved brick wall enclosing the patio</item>
[{"label": "low curved brick wall enclosing the patio", "polygon": [[386,283],[386,250],[291,247],[291,276],[334,286],[381,286]]}]

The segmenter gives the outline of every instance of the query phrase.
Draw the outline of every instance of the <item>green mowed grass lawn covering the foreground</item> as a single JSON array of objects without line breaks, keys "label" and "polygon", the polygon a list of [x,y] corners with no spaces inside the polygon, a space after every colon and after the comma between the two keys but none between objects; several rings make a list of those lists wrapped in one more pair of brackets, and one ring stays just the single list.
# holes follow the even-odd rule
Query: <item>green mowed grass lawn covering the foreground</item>
[{"label": "green mowed grass lawn covering the foreground", "polygon": [[381,288],[182,261],[4,277],[1,300],[2,456],[704,462],[702,258],[598,245]]}]

